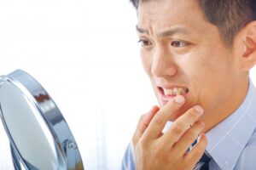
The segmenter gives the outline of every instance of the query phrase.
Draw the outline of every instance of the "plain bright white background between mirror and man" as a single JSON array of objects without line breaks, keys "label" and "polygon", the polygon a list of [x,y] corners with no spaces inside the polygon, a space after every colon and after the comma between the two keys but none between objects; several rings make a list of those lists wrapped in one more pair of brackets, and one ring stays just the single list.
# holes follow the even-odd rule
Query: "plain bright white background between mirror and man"
[{"label": "plain bright white background between mirror and man", "polygon": [[[0,1],[0,75],[22,69],[41,82],[86,169],[119,169],[138,117],[157,104],[136,24],[129,0]],[[8,141],[0,133],[0,168],[7,169]]]}]

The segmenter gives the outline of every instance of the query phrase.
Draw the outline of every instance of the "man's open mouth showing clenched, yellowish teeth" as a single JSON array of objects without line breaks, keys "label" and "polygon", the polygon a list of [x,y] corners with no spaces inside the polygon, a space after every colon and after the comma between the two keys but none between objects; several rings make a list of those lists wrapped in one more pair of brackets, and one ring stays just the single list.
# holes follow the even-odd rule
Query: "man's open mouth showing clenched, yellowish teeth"
[{"label": "man's open mouth showing clenched, yellowish teeth", "polygon": [[159,87],[160,94],[164,96],[174,97],[176,95],[185,95],[189,93],[189,88],[161,88]]}]

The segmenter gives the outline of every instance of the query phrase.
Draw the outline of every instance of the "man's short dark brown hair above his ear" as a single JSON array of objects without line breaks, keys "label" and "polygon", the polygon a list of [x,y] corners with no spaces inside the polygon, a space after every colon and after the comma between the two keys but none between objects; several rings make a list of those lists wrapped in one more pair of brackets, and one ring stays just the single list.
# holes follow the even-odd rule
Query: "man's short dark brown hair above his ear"
[{"label": "man's short dark brown hair above his ear", "polygon": [[[131,3],[138,8],[140,1],[152,0],[131,0]],[[207,20],[218,26],[224,42],[228,45],[231,45],[236,33],[243,26],[256,20],[255,0],[198,0],[198,3]]]}]

